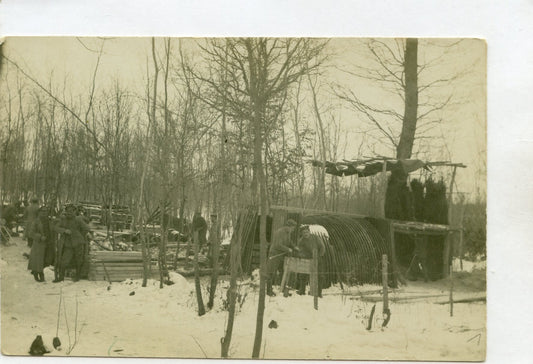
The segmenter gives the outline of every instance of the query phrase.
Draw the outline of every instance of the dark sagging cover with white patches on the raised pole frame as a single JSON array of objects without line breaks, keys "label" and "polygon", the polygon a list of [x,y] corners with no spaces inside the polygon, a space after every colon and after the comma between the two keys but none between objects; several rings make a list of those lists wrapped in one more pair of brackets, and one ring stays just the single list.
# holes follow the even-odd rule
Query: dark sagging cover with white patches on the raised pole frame
[{"label": "dark sagging cover with white patches on the raised pole frame", "polygon": [[[422,162],[419,159],[390,159],[390,160],[366,160],[366,161],[344,161],[344,162],[326,162],[325,171],[335,176],[352,176],[357,174],[359,177],[373,176],[383,171],[383,163],[387,162],[387,171],[401,168],[403,172],[410,173],[420,168],[429,170],[430,163]],[[322,161],[313,160],[311,164],[314,167],[324,167]]]}]

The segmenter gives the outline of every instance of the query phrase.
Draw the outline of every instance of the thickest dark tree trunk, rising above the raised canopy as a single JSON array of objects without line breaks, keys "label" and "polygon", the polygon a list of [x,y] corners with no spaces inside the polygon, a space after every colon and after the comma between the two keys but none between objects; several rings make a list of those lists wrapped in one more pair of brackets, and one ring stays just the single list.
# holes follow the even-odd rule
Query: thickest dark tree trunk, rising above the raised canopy
[{"label": "thickest dark tree trunk, rising above the raised canopy", "polygon": [[405,45],[405,109],[402,133],[396,149],[396,158],[409,159],[413,151],[418,112],[418,39],[408,38]]}]

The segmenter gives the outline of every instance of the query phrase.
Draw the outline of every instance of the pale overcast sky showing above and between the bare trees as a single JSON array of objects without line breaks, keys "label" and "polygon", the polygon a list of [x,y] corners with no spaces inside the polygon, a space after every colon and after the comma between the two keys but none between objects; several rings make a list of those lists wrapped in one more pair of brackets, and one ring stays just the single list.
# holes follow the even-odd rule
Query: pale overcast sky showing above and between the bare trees
[{"label": "pale overcast sky showing above and between the bare trees", "polygon": [[[201,38],[175,40],[185,51],[199,54],[196,42]],[[370,128],[367,118],[354,112],[348,104],[340,103],[335,92],[339,88],[355,92],[365,102],[384,108],[395,108],[403,113],[402,100],[383,91],[376,82],[354,77],[345,71],[357,71],[357,67],[374,67],[367,48],[367,38],[332,38],[326,51],[330,57],[325,72],[327,86],[322,87],[319,98],[323,104],[335,104],[335,114],[342,125],[338,159],[361,157],[358,148],[363,138],[361,132]],[[389,40],[390,41],[390,40]],[[449,106],[436,116],[442,123],[431,134],[437,139],[425,145],[426,153],[419,158],[427,160],[448,160],[468,166],[457,176],[460,192],[473,194],[480,190],[485,193],[486,171],[486,43],[479,39],[464,39],[460,44],[450,46],[456,39],[421,39],[419,41],[418,62],[427,62],[444,56],[430,69],[420,74],[419,85],[434,79],[447,78],[468,70],[460,79],[446,83],[443,87],[431,90],[432,100],[445,100],[453,95],[457,104]],[[130,92],[142,95],[146,85],[147,62],[151,67],[150,38],[113,37],[105,42],[95,37],[12,37],[5,43],[5,53],[43,84],[50,77],[57,85],[66,85],[67,94],[85,98],[90,89],[92,74],[97,61],[98,50],[103,44],[103,56],[97,76],[98,90],[107,88],[114,80],[119,80]],[[151,71],[151,68],[150,68]],[[423,95],[420,95],[420,102]],[[142,108],[142,106],[141,106]],[[419,111],[421,114],[423,110]],[[328,120],[328,118],[325,118]],[[400,124],[397,124],[398,128]],[[399,129],[398,129],[399,130]],[[367,137],[365,137],[367,138]],[[368,139],[368,138],[367,138]],[[428,141],[424,141],[428,144]],[[346,143],[346,146],[344,144]],[[366,140],[364,156],[394,156],[390,146]],[[443,147],[446,146],[446,148]],[[373,150],[370,150],[372,148]],[[418,149],[418,148],[416,148]],[[439,171],[449,173],[450,171]]]}]

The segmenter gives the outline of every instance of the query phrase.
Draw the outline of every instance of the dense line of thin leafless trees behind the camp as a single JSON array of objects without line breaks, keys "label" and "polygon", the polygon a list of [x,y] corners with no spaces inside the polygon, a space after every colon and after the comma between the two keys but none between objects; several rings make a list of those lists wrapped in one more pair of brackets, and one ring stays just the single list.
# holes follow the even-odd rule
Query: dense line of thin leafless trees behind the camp
[{"label": "dense line of thin leafless trees behind the camp", "polygon": [[[436,67],[432,60],[417,64],[419,48],[431,44],[417,49],[417,40],[369,41],[369,56],[377,66],[352,65],[354,75],[391,87],[408,104],[402,112],[396,102],[374,107],[361,100],[357,87],[337,87],[331,75],[338,54],[325,40],[154,39],[147,48],[146,73],[135,75],[145,85],[139,91],[119,79],[99,78],[109,42],[95,40],[91,82],[76,94],[67,80],[53,74],[34,77],[20,66],[22,60],[3,58],[3,202],[33,195],[55,206],[90,200],[129,205],[140,218],[164,200],[172,215],[218,212],[227,225],[239,207],[259,204],[262,174],[267,205],[375,215],[383,190],[379,177],[329,177],[306,161],[346,157],[347,147],[357,149],[353,157],[364,157],[376,151],[376,141],[391,149],[402,144],[401,155],[416,156],[424,150],[416,140],[429,138],[427,131],[409,129],[409,153],[398,142],[403,115],[409,120],[417,115],[412,104],[418,97],[409,93],[422,95],[419,127],[426,119],[428,125],[442,123],[429,117],[450,103],[450,95],[427,95],[459,77],[436,72],[434,79],[412,86],[407,78],[417,76],[413,67],[418,76]],[[442,57],[452,46],[443,47]],[[390,140],[376,139],[362,122],[367,138],[354,148],[345,135],[342,104],[373,120]],[[399,126],[387,124],[396,119]],[[258,137],[260,159],[254,144]],[[259,162],[262,172],[256,168]]]}]

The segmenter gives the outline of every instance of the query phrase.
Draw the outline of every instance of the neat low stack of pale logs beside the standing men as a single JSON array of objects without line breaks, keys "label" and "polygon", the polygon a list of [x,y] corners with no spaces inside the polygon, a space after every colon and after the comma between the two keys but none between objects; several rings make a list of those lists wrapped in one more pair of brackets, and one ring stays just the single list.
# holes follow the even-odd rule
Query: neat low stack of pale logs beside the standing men
[{"label": "neat low stack of pale logs beside the standing men", "polygon": [[[143,277],[141,252],[92,251],[89,254],[89,280],[121,282]],[[157,261],[151,260],[149,278],[158,279]]]}]

